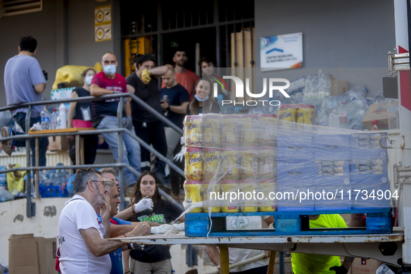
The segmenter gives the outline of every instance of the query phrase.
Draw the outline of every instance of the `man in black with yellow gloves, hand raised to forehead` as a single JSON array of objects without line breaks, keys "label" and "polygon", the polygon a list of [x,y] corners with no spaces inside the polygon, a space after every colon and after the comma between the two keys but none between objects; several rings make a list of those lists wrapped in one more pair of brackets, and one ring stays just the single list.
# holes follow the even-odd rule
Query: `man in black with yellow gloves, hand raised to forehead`
[{"label": "man in black with yellow gloves, hand raised to forehead", "polygon": [[[136,56],[133,60],[133,65],[136,72],[131,73],[127,77],[127,90],[130,90],[131,93],[134,93],[134,95],[163,115],[157,79],[166,74],[168,67],[165,65],[155,67],[154,57],[150,54]],[[163,122],[134,101],[131,101],[131,117],[133,118],[136,135],[148,145],[153,145],[154,150],[166,156],[167,143]],[[163,186],[170,188],[170,182],[168,182],[164,174],[165,167],[166,163],[156,158],[154,172]],[[150,170],[150,152],[142,146],[141,171],[144,170]],[[131,191],[131,189],[129,190]]]}]

